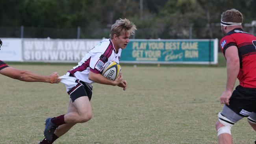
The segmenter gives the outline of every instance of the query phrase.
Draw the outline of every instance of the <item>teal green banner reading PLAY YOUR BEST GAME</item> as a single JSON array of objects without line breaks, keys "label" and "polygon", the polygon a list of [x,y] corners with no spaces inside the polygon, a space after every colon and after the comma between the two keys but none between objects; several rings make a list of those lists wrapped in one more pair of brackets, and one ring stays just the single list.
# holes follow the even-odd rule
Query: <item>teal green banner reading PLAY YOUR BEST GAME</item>
[{"label": "teal green banner reading PLAY YOUR BEST GAME", "polygon": [[121,63],[217,64],[218,39],[131,39]]}]

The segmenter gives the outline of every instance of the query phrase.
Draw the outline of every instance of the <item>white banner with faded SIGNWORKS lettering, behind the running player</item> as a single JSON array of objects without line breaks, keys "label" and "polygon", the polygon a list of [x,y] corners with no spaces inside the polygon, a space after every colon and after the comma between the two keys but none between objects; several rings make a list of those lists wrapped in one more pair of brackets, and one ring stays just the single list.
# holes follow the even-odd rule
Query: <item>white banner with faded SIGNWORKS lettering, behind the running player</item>
[{"label": "white banner with faded SIGNWORKS lettering, behind the running player", "polygon": [[99,39],[23,39],[23,60],[79,62]]}]

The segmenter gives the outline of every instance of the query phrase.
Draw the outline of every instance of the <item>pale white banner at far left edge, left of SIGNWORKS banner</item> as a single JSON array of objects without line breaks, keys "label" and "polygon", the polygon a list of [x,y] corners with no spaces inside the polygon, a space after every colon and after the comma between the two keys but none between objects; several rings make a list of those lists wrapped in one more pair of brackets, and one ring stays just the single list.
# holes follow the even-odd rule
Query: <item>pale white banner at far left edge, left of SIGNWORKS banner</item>
[{"label": "pale white banner at far left edge, left of SIGNWORKS banner", "polygon": [[0,50],[2,61],[22,61],[21,39],[1,38],[3,45]]}]

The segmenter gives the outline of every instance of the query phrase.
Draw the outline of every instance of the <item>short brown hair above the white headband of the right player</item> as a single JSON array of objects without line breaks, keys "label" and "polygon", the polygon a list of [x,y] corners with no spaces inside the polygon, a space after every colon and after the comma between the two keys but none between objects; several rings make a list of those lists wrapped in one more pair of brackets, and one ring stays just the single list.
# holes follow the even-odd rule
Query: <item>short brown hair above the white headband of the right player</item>
[{"label": "short brown hair above the white headband of the right player", "polygon": [[243,23],[243,15],[236,9],[229,9],[222,13],[221,21]]}]

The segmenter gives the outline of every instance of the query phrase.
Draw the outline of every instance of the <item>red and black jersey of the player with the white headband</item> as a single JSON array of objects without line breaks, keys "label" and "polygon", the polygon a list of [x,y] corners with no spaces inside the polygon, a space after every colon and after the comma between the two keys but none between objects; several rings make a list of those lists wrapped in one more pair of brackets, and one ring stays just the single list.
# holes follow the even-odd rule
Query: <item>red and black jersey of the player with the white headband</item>
[{"label": "red and black jersey of the player with the white headband", "polygon": [[223,54],[230,46],[238,48],[240,70],[237,78],[242,87],[256,88],[256,37],[236,28],[228,32],[220,41]]}]

